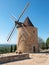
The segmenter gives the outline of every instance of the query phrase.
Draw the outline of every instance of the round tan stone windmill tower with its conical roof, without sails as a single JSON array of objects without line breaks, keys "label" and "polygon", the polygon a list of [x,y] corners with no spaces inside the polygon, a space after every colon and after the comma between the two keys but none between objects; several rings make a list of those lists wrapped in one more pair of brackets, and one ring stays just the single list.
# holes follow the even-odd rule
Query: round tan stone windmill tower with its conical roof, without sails
[{"label": "round tan stone windmill tower with its conical roof, without sails", "polygon": [[31,23],[29,17],[24,21],[25,28],[18,27],[18,47],[21,52],[38,52],[38,34],[37,28]]}]

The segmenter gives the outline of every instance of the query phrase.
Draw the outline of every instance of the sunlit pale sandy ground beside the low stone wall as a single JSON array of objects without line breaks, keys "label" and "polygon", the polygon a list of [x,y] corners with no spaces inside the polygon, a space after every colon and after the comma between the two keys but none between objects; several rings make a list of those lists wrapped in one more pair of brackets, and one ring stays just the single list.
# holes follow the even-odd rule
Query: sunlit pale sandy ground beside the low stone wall
[{"label": "sunlit pale sandy ground beside the low stone wall", "polygon": [[9,62],[1,65],[49,65],[49,54],[33,53],[30,54],[30,59]]}]

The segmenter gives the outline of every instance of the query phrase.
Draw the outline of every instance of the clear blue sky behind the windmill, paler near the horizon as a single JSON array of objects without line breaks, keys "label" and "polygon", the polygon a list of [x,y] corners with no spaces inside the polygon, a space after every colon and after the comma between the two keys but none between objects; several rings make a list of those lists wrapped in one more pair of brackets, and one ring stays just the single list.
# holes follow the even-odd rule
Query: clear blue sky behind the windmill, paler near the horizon
[{"label": "clear blue sky behind the windmill, paler near the horizon", "polygon": [[0,43],[17,43],[18,29],[15,29],[11,40],[7,38],[15,23],[12,16],[18,19],[25,5],[30,2],[29,7],[21,17],[24,21],[28,16],[38,29],[38,37],[44,41],[49,37],[49,0],[0,0]]}]

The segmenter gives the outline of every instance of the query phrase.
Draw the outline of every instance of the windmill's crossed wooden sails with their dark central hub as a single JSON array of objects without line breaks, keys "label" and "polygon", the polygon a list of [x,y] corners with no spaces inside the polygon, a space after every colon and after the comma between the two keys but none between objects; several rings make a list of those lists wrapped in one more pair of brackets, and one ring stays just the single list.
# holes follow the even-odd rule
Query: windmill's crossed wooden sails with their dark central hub
[{"label": "windmill's crossed wooden sails with their dark central hub", "polygon": [[7,41],[9,41],[9,39],[10,39],[12,33],[13,33],[14,30],[15,30],[15,27],[18,27],[18,26],[22,26],[23,29],[26,31],[26,33],[27,33],[28,35],[30,35],[30,34],[28,33],[28,31],[26,30],[26,28],[24,27],[25,25],[24,25],[22,22],[19,22],[20,18],[22,17],[22,15],[24,14],[24,12],[25,12],[26,9],[28,8],[29,4],[30,4],[30,3],[27,3],[26,7],[25,7],[24,10],[22,11],[22,13],[21,13],[21,15],[19,16],[19,18],[18,18],[17,21],[16,21],[16,18],[15,18],[14,16],[12,16],[12,18],[15,19],[15,26],[14,26],[12,32],[10,33],[10,35],[9,35],[9,37],[8,37],[8,39],[7,39]]}]

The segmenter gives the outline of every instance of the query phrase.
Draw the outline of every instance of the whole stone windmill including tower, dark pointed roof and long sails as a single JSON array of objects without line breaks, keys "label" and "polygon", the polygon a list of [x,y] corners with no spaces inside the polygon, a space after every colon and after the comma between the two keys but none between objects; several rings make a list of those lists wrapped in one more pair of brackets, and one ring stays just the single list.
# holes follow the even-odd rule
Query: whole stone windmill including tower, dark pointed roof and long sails
[{"label": "whole stone windmill including tower, dark pointed roof and long sails", "polygon": [[14,16],[13,19],[15,19],[15,26],[9,35],[7,41],[12,36],[12,33],[14,32],[15,28],[18,29],[18,44],[17,44],[17,50],[21,52],[38,52],[39,51],[39,44],[38,44],[38,35],[37,35],[37,28],[34,27],[34,25],[31,23],[30,19],[27,17],[26,20],[22,23],[19,22],[20,18],[28,8],[29,3],[27,3],[26,7],[22,11],[21,15],[19,16],[18,20]]}]

